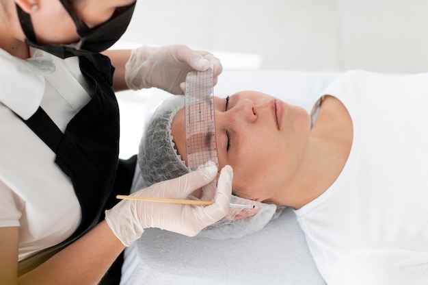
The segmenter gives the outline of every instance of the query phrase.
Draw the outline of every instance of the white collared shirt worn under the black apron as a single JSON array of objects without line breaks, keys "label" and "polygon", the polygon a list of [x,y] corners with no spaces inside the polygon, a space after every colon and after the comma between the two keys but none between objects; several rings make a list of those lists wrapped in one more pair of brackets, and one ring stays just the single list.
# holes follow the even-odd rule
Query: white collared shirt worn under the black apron
[{"label": "white collared shirt worn under the black apron", "polygon": [[55,153],[11,109],[28,119],[42,106],[64,132],[90,100],[77,58],[31,52],[21,60],[0,49],[0,227],[19,227],[19,260],[68,238],[81,209]]}]

